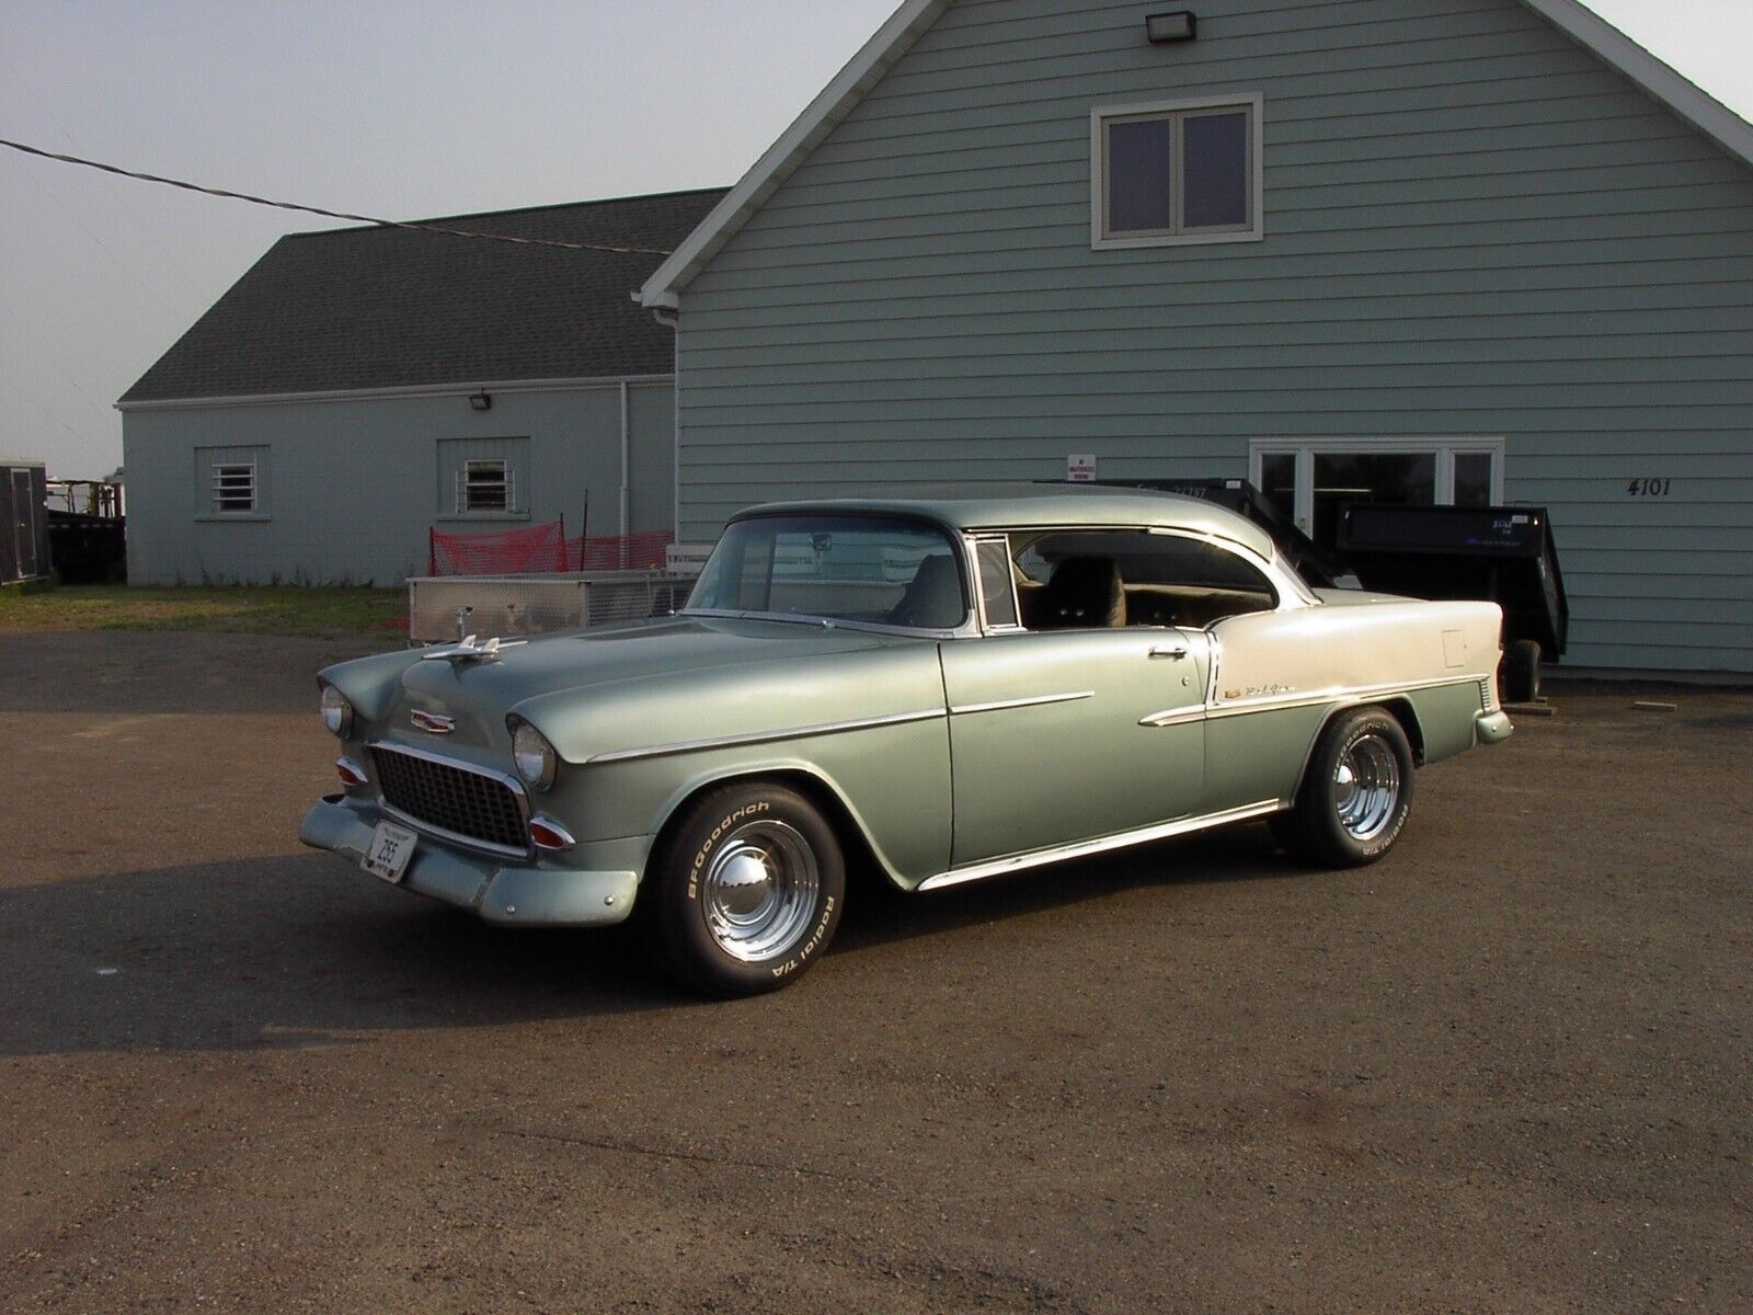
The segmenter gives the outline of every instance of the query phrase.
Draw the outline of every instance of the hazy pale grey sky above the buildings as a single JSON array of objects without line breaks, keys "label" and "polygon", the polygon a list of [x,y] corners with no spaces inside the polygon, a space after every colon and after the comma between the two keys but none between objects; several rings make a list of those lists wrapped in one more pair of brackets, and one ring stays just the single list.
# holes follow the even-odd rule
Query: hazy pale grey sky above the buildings
[{"label": "hazy pale grey sky above the buildings", "polygon": [[[0,0],[0,137],[387,217],[735,182],[896,0]],[[1753,117],[1753,0],[1590,0]],[[0,456],[121,461],[110,403],[333,221],[0,149]]]}]

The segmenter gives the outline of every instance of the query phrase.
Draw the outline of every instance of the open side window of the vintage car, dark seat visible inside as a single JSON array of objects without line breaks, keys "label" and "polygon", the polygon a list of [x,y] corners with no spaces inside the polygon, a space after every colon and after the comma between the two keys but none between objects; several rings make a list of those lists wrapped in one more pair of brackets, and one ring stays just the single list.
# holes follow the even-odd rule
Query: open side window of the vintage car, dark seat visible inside
[{"label": "open side window of the vintage car, dark seat visible inside", "polygon": [[1224,617],[1278,607],[1271,582],[1246,558],[1189,535],[1045,533],[1024,544],[1017,566],[1024,577],[1022,621],[1029,629],[1201,629]]}]

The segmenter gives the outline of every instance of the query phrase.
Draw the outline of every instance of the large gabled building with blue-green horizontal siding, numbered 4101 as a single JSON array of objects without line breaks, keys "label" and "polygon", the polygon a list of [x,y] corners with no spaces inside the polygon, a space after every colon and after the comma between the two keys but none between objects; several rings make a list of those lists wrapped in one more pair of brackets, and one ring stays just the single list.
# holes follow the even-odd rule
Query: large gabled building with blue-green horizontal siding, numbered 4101
[{"label": "large gabled building with blue-green horizontal siding, numbered 4101", "polygon": [[1572,0],[908,0],[642,289],[680,531],[1248,477],[1551,507],[1578,668],[1753,672],[1753,128]]}]

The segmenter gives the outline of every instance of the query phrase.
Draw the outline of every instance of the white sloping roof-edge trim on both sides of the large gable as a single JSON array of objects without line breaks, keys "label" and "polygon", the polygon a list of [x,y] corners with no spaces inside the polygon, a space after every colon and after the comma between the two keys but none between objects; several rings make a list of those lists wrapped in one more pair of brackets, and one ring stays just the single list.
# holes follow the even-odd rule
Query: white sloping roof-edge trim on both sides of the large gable
[{"label": "white sloping roof-edge trim on both sides of the large gable", "polygon": [[[1753,124],[1700,91],[1643,46],[1586,9],[1581,0],[1522,0],[1567,37],[1625,74],[1648,95],[1702,132],[1741,163],[1753,167]],[[768,196],[820,146],[864,95],[894,68],[913,42],[938,21],[950,0],[905,0],[864,49],[834,75],[822,95],[768,147],[742,181],[719,202],[699,228],[645,281],[636,300],[645,307],[675,309],[678,295],[759,210]]]}]

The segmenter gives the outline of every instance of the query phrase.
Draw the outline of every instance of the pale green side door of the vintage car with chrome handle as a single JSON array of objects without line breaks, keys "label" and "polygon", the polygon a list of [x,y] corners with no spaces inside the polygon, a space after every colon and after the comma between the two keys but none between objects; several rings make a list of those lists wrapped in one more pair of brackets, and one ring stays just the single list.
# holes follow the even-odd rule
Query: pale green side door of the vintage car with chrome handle
[{"label": "pale green side door of the vintage car with chrome handle", "polygon": [[955,866],[1132,831],[1204,793],[1201,631],[945,640]]}]

